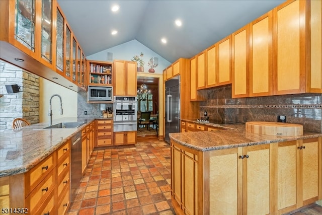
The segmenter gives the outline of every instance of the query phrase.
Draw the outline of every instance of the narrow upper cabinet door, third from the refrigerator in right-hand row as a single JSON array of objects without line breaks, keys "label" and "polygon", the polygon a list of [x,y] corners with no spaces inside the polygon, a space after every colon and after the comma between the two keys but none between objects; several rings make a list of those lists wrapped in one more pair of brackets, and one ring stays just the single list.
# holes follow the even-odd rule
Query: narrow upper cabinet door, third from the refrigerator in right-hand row
[{"label": "narrow upper cabinet door, third from the refrigerator in right-hand row", "polygon": [[217,52],[217,45],[214,44],[207,48],[206,56],[207,56],[207,69],[206,69],[206,77],[207,83],[206,87],[211,88],[216,86],[216,52]]}]

